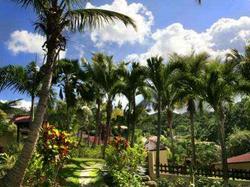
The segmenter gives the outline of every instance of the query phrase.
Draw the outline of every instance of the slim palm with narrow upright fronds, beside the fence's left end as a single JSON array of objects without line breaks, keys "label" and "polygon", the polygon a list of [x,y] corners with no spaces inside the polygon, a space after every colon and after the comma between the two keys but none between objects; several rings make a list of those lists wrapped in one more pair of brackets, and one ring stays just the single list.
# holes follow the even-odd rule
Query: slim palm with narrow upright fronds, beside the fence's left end
[{"label": "slim palm with narrow upright fronds, beside the fence's left end", "polygon": [[148,86],[156,95],[157,100],[157,145],[156,145],[156,177],[160,177],[160,136],[161,136],[161,113],[162,97],[164,90],[164,65],[162,57],[151,57],[147,59]]}]

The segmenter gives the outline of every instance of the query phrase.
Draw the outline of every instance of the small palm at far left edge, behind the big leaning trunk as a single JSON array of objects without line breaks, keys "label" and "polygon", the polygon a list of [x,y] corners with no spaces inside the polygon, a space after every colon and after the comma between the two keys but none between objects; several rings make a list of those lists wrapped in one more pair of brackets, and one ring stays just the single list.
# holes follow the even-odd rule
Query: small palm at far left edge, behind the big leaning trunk
[{"label": "small palm at far left edge, behind the big leaning trunk", "polygon": [[35,97],[41,89],[41,75],[36,62],[26,67],[8,65],[0,68],[0,91],[7,88],[31,97],[30,116],[33,119]]}]

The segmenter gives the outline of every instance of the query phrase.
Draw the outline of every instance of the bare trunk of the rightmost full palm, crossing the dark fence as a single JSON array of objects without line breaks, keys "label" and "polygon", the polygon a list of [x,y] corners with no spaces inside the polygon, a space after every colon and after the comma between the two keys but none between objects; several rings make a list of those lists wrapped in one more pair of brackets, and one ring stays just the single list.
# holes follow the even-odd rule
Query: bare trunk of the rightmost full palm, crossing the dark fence
[{"label": "bare trunk of the rightmost full palm, crossing the dark fence", "polygon": [[219,108],[219,132],[220,132],[220,144],[221,144],[221,161],[223,170],[223,186],[228,187],[228,164],[227,164],[227,149],[225,145],[225,113],[223,106]]}]

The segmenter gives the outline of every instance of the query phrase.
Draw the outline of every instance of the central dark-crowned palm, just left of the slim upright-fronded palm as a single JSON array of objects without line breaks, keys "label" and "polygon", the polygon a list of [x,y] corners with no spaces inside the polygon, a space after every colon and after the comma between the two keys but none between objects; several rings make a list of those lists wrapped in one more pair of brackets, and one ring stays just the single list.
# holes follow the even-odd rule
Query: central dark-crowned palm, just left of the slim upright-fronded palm
[{"label": "central dark-crowned palm, just left of the slim upright-fronded palm", "polygon": [[148,97],[147,86],[145,84],[146,68],[141,66],[139,63],[133,62],[131,69],[128,70],[127,64],[121,63],[119,71],[124,81],[124,87],[121,92],[128,99],[128,139],[131,131],[131,147],[134,146],[135,139],[135,123],[137,114],[137,107],[135,98],[137,95],[142,94],[145,98]]}]

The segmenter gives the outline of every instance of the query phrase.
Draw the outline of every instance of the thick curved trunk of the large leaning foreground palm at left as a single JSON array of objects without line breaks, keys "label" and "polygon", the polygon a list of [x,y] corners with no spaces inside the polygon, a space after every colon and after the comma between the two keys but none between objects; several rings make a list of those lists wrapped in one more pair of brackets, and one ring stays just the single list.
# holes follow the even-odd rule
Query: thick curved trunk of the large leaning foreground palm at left
[{"label": "thick curved trunk of the large leaning foreground palm at left", "polygon": [[1,187],[20,187],[25,175],[25,170],[28,167],[29,161],[36,148],[37,140],[39,138],[39,131],[43,123],[43,117],[46,111],[47,102],[49,98],[49,91],[51,87],[51,81],[53,76],[53,65],[54,65],[54,50],[48,54],[45,76],[43,79],[42,90],[40,93],[40,99],[35,113],[34,121],[31,125],[31,131],[27,140],[25,141],[24,147],[21,154],[16,161],[15,166],[9,170],[6,176],[1,179]]}]

